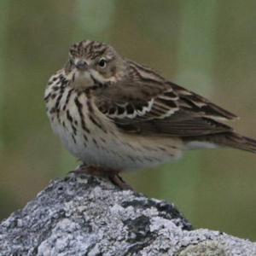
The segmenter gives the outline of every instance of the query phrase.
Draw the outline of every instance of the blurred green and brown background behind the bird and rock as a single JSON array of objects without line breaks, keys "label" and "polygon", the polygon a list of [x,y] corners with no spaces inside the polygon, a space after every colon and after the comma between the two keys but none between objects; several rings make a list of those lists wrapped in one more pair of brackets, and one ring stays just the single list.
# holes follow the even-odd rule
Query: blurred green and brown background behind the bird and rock
[{"label": "blurred green and brown background behind the bird and rock", "polygon": [[[78,165],[50,130],[44,87],[70,44],[96,39],[241,116],[256,137],[256,1],[0,2],[0,218]],[[125,174],[174,202],[195,227],[256,240],[256,156],[193,151],[156,170]]]}]

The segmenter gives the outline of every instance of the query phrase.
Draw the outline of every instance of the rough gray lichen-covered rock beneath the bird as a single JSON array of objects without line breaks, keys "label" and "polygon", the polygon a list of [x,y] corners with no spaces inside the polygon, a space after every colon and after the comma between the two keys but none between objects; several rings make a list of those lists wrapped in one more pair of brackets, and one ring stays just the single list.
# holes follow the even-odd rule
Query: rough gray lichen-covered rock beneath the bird
[{"label": "rough gray lichen-covered rock beneath the bird", "polygon": [[3,220],[0,255],[256,255],[256,243],[193,230],[172,204],[71,174]]}]

